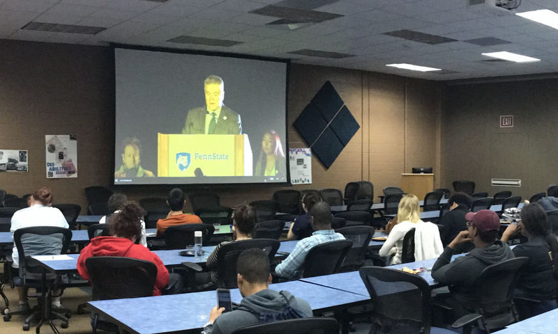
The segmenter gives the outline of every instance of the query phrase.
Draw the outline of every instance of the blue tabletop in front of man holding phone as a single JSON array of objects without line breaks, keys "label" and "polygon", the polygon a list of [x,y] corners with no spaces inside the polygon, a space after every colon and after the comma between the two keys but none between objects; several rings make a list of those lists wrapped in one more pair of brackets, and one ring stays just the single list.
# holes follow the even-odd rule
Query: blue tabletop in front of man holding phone
[{"label": "blue tabletop in front of man holding phone", "polygon": [[[294,296],[307,301],[312,310],[368,300],[368,296],[296,280],[272,284],[269,288],[291,292]],[[240,303],[241,298],[239,289],[231,289],[231,299],[234,303]],[[123,324],[131,333],[169,333],[202,328],[209,319],[209,311],[216,305],[216,292],[90,301],[89,304],[100,313],[114,319],[116,323]],[[148,314],[152,316],[139,316]]]}]

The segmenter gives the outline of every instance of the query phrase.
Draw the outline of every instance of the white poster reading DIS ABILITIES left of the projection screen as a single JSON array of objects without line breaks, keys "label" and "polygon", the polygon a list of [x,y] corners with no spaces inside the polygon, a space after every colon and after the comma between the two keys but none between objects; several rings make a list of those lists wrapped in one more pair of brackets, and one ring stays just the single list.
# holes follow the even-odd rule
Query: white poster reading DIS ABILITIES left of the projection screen
[{"label": "white poster reading DIS ABILITIES left of the projection screen", "polygon": [[47,134],[45,143],[47,179],[77,177],[77,137]]}]

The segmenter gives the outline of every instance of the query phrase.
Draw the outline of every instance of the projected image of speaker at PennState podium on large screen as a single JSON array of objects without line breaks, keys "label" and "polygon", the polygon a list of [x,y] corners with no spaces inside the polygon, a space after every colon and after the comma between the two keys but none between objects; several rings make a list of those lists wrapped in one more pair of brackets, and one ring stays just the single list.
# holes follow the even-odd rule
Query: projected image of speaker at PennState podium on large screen
[{"label": "projected image of speaker at PennState podium on large screen", "polygon": [[114,52],[114,184],[287,182],[287,63]]}]

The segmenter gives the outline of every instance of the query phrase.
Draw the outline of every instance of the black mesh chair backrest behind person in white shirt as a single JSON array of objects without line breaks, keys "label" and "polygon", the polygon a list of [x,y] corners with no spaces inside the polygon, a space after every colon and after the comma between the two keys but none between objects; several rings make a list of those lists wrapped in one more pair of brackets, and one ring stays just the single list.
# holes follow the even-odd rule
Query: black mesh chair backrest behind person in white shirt
[{"label": "black mesh chair backrest behind person in white shirt", "polygon": [[[72,231],[68,228],[54,226],[33,226],[20,228],[13,233],[13,241],[20,258],[20,273],[23,275],[24,285],[29,273],[42,273],[39,265],[28,263],[32,255],[59,255],[66,253],[72,239]],[[29,276],[38,279],[36,276]],[[52,276],[50,276],[52,278]]]}]

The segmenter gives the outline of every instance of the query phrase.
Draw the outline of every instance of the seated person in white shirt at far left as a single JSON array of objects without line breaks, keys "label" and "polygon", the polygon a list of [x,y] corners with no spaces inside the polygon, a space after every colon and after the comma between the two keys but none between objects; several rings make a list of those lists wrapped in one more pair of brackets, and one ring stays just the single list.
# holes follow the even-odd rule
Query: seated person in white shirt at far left
[{"label": "seated person in white shirt at far left", "polygon": [[[69,228],[68,221],[64,215],[56,207],[52,207],[52,193],[47,188],[40,188],[35,191],[28,199],[29,207],[18,210],[15,212],[11,219],[10,232],[13,234],[20,228],[31,228],[33,226],[54,226],[59,228]],[[42,240],[27,239],[26,249],[33,253],[33,249],[40,249],[38,247],[44,246]],[[60,247],[61,245],[59,245]],[[53,245],[53,248],[56,248]],[[12,251],[12,267],[20,267],[20,257],[17,253],[15,244]],[[29,303],[27,301],[27,290],[24,287],[17,287],[17,293],[20,295],[18,310],[29,310]],[[60,297],[52,297],[52,305],[54,308],[61,308]]]}]

